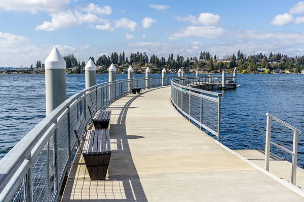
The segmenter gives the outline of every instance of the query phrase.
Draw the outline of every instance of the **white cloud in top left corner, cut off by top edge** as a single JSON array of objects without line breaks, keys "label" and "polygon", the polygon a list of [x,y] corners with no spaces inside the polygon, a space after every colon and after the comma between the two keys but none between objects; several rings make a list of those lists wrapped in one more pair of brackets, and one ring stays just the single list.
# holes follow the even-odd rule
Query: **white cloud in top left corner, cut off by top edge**
[{"label": "white cloud in top left corner, cut off by top edge", "polygon": [[6,11],[26,11],[30,13],[59,12],[68,9],[70,0],[1,0],[0,9]]}]

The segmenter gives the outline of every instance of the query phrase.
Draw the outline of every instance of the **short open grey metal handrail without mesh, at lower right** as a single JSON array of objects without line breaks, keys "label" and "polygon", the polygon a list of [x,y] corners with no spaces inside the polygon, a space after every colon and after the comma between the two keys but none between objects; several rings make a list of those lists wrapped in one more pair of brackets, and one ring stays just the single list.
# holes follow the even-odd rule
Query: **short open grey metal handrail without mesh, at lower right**
[{"label": "short open grey metal handrail without mesh, at lower right", "polygon": [[[299,131],[298,129],[294,128],[293,126],[285,123],[284,121],[272,116],[271,114],[267,113],[267,128],[266,128],[266,145],[265,145],[265,170],[269,171],[269,163],[270,163],[270,145],[273,144],[276,147],[286,151],[287,153],[292,155],[292,169],[291,169],[291,183],[295,185],[296,181],[296,167],[297,167],[297,152],[298,152],[298,138],[299,138]],[[286,126],[287,128],[293,130],[293,146],[292,151],[288,150],[287,148],[271,141],[271,126],[272,120],[279,122],[280,124]]]}]

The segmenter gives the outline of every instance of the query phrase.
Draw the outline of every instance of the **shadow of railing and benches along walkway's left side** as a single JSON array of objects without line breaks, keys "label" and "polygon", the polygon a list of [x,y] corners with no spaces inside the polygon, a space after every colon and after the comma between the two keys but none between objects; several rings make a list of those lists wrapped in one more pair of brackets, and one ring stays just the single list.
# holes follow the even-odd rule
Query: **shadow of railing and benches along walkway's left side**
[{"label": "shadow of railing and benches along walkway's left side", "polygon": [[62,201],[147,201],[138,172],[132,159],[129,139],[145,138],[127,134],[126,116],[134,100],[149,89],[134,96],[118,99],[108,108],[110,120],[111,159],[107,179],[91,181],[83,156],[78,151],[64,190]]}]

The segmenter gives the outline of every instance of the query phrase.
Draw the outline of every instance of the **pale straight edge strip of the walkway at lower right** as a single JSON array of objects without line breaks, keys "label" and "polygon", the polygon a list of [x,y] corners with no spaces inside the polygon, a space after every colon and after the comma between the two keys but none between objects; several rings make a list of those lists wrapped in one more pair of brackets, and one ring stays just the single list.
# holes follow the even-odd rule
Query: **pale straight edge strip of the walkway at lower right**
[{"label": "pale straight edge strip of the walkway at lower right", "polygon": [[243,161],[245,161],[246,163],[250,164],[251,166],[253,166],[254,168],[256,168],[257,170],[261,171],[262,173],[264,173],[265,175],[273,178],[274,180],[276,180],[277,182],[281,183],[282,185],[284,185],[285,187],[289,188],[290,190],[294,191],[295,193],[299,194],[300,196],[304,197],[304,191],[302,191],[299,187],[297,187],[296,185],[291,184],[290,182],[284,180],[284,179],[280,179],[277,176],[271,174],[270,172],[268,172],[267,170],[262,169],[261,167],[257,166],[256,164],[252,163],[251,161],[247,160],[246,158],[242,157],[241,155],[237,154],[235,151],[233,151],[231,148],[223,145],[222,143],[214,140],[215,143],[217,143],[218,145],[220,145],[221,147],[223,147],[224,149],[226,149],[227,151],[229,151],[231,154],[239,157],[240,159],[242,159]]}]

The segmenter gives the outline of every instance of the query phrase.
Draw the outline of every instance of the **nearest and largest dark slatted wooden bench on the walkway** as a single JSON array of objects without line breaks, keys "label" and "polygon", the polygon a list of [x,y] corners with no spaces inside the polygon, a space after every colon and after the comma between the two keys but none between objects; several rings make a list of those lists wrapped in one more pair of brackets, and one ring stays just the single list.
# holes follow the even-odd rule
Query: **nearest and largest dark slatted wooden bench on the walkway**
[{"label": "nearest and largest dark slatted wooden bench on the walkway", "polygon": [[111,158],[109,130],[86,131],[86,120],[81,116],[74,133],[91,180],[104,180]]}]

